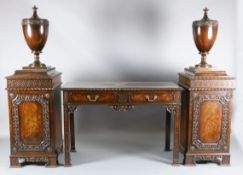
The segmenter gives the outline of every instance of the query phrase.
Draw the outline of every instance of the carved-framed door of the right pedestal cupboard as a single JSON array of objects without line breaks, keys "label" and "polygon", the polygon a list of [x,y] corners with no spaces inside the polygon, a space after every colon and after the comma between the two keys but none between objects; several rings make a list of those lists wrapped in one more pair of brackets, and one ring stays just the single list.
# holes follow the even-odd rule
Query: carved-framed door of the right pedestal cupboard
[{"label": "carved-framed door of the right pedestal cupboard", "polygon": [[231,98],[229,92],[194,93],[191,150],[229,150]]}]

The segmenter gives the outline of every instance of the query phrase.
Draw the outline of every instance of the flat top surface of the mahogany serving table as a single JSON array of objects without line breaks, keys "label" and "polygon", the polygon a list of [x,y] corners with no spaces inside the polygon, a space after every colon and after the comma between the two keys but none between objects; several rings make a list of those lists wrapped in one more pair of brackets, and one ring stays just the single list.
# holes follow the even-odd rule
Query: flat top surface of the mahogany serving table
[{"label": "flat top surface of the mahogany serving table", "polygon": [[173,82],[68,82],[62,90],[182,90]]}]

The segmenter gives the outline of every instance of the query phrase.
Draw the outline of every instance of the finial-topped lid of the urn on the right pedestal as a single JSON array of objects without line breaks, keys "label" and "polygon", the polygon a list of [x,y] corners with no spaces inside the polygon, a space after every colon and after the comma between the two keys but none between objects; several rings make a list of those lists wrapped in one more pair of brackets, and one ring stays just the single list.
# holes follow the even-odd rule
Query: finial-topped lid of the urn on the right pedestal
[{"label": "finial-topped lid of the urn on the right pedestal", "polygon": [[203,18],[201,20],[193,21],[192,26],[195,26],[195,27],[196,26],[218,26],[218,21],[217,20],[211,20],[208,17],[209,9],[208,8],[204,8],[203,11],[204,11]]}]

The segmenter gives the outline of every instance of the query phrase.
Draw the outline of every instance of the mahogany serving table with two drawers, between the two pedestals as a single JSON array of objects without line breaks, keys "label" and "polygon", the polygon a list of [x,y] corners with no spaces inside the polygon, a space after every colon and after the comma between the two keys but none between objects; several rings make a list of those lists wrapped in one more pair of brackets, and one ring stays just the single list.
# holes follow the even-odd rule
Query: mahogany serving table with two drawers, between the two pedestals
[{"label": "mahogany serving table with two drawers, between the two pedestals", "polygon": [[165,150],[170,150],[170,123],[174,117],[173,165],[179,165],[181,91],[170,82],[67,83],[62,86],[64,105],[64,159],[71,166],[75,151],[74,111],[80,105],[109,105],[127,111],[135,105],[160,104],[166,107]]}]

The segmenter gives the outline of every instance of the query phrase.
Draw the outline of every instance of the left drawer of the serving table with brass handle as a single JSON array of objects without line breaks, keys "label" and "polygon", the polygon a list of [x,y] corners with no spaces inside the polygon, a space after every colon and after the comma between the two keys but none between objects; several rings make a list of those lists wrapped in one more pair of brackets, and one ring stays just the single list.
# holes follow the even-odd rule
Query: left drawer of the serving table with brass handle
[{"label": "left drawer of the serving table with brass handle", "polygon": [[74,103],[114,103],[117,95],[112,92],[71,93],[69,101]]}]

